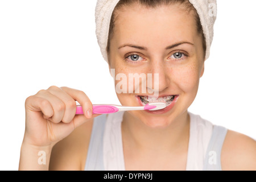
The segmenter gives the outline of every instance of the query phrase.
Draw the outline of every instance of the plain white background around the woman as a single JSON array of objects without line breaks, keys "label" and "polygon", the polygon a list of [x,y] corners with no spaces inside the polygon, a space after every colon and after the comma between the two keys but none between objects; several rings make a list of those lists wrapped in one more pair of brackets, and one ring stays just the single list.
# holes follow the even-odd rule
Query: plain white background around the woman
[{"label": "plain white background around the woman", "polygon": [[[17,170],[24,101],[51,85],[119,104],[98,48],[96,0],[0,0],[0,170]],[[219,0],[210,58],[189,111],[256,139],[256,1]]]}]

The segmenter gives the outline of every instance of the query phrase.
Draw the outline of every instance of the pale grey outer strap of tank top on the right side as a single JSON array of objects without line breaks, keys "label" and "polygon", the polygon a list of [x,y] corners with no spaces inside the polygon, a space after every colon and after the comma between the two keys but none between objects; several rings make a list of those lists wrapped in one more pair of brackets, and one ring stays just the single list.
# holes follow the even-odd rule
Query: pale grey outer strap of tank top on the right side
[{"label": "pale grey outer strap of tank top on the right side", "polygon": [[208,144],[204,160],[204,171],[221,171],[221,150],[226,137],[227,129],[222,126],[213,126],[212,137]]}]

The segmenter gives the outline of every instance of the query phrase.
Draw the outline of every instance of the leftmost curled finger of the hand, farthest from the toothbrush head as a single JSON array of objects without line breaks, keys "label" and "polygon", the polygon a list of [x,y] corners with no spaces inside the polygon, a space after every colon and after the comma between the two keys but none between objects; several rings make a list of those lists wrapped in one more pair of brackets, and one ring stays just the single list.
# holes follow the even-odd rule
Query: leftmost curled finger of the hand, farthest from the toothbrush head
[{"label": "leftmost curled finger of the hand, farthest from the toothbrush head", "polygon": [[54,111],[51,103],[41,97],[30,96],[25,101],[26,110],[42,111],[44,118],[51,118]]}]

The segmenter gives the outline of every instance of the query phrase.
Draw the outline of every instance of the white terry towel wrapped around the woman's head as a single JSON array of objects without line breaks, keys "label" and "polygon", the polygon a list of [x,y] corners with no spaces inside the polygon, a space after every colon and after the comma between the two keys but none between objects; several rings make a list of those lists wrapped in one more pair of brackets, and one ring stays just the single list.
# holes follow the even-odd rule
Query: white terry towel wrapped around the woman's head
[{"label": "white terry towel wrapped around the woman's head", "polygon": [[[113,10],[119,0],[97,0],[95,10],[96,36],[101,49],[102,56],[108,62],[109,25]],[[216,20],[217,3],[216,0],[189,0],[195,7],[203,27],[207,50],[205,59],[209,58],[210,46],[213,40],[213,25]]]}]

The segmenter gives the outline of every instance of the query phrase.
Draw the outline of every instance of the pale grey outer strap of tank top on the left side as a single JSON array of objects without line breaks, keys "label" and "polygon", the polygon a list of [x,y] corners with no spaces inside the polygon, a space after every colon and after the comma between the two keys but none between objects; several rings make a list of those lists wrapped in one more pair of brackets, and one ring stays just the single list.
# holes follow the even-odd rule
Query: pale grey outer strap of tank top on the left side
[{"label": "pale grey outer strap of tank top on the left side", "polygon": [[85,171],[104,171],[103,136],[106,123],[106,114],[94,118]]}]

